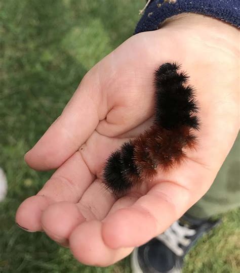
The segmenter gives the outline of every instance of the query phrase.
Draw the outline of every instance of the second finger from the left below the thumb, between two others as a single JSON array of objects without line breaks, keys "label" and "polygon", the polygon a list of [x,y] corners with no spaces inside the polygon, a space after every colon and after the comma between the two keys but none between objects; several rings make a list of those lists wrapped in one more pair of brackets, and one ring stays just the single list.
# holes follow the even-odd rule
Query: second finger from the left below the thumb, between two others
[{"label": "second finger from the left below the thumb, between two others", "polygon": [[60,244],[67,244],[73,229],[84,221],[103,219],[115,198],[96,179],[77,204],[58,202],[50,205],[42,214],[41,223],[46,234]]}]

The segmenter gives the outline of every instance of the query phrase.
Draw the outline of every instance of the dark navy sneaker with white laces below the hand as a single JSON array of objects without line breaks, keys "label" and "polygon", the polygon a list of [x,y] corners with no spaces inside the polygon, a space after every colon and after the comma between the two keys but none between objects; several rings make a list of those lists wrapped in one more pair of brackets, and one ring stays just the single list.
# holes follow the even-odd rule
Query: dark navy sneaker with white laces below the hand
[{"label": "dark navy sneaker with white laces below the hand", "polygon": [[197,220],[184,215],[163,234],[132,253],[133,273],[179,273],[190,248],[220,220]]}]

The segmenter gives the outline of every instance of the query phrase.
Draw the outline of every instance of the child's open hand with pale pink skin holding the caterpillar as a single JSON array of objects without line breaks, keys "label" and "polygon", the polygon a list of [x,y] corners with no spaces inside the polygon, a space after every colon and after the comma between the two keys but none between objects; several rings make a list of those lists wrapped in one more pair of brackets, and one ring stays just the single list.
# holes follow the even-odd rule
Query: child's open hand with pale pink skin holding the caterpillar
[{"label": "child's open hand with pale pink skin holding the caterpillar", "polygon": [[[210,188],[239,129],[239,32],[183,14],[137,34],[96,64],[61,116],[25,155],[36,170],[57,170],[19,207],[16,222],[44,231],[85,264],[107,266],[164,232]],[[168,172],[116,200],[101,184],[111,151],[152,122],[153,71],[177,61],[200,106],[199,145]]]}]

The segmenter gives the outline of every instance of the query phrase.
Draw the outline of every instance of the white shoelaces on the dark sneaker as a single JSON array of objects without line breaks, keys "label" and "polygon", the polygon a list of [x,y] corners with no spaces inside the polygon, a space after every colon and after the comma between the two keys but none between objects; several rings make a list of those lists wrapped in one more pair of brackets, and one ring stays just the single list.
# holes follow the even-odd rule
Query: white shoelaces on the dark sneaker
[{"label": "white shoelaces on the dark sneaker", "polygon": [[189,229],[186,226],[181,226],[179,222],[176,221],[163,234],[158,235],[156,239],[162,241],[176,255],[182,256],[184,251],[180,245],[188,246],[191,243],[191,240],[186,237],[193,236],[195,233],[195,230]]}]

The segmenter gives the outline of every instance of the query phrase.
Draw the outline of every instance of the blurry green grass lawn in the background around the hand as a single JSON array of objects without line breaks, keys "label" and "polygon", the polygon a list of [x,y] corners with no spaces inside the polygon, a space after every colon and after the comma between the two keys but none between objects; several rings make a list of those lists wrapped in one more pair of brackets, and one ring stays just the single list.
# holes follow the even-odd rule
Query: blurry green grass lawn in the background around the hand
[{"label": "blurry green grass lawn in the background around the hand", "polygon": [[[51,172],[23,161],[61,113],[84,74],[130,37],[140,0],[0,0],[0,166],[9,193],[0,204],[0,272],[130,272],[129,258],[108,268],[75,261],[43,233],[14,222],[18,205],[35,194]],[[184,272],[237,272],[239,211],[197,244]],[[238,244],[238,245],[237,245]]]}]

